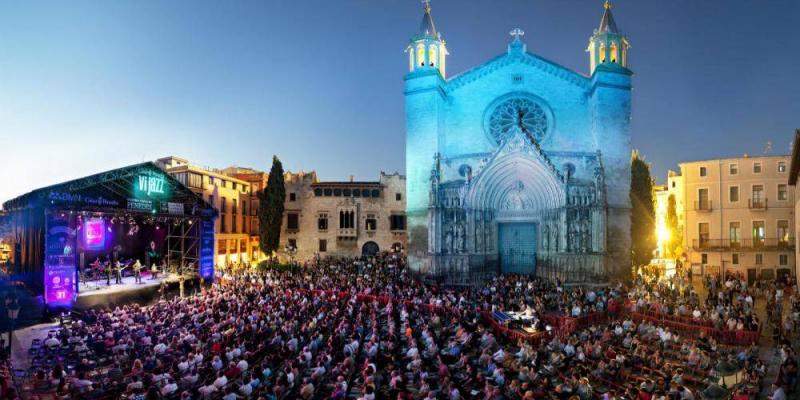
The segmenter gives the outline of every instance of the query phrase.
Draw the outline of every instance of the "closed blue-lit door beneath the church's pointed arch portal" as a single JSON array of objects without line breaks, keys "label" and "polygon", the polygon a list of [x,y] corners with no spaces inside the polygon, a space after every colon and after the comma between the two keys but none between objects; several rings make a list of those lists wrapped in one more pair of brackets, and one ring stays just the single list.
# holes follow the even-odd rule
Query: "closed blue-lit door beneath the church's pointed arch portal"
[{"label": "closed blue-lit door beneath the church's pointed arch portal", "polygon": [[533,274],[536,272],[536,224],[500,224],[498,235],[500,272]]}]

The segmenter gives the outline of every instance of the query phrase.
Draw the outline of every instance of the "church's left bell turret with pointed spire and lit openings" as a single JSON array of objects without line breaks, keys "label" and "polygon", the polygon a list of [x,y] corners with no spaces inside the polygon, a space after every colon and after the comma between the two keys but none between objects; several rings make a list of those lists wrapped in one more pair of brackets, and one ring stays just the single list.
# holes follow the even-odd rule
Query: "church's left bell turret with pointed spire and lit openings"
[{"label": "church's left bell turret with pointed spire and lit openings", "polygon": [[411,37],[406,48],[409,72],[420,69],[438,69],[445,76],[445,57],[449,54],[442,34],[436,30],[431,15],[430,0],[422,1],[422,22],[419,31]]}]

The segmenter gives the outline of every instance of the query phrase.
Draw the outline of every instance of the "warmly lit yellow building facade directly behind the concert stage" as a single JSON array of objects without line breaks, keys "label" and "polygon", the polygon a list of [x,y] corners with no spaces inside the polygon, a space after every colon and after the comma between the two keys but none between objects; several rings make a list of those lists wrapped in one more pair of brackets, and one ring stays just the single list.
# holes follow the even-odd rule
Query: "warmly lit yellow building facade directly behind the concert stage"
[{"label": "warmly lit yellow building facade directly behind the concert stage", "polygon": [[180,157],[164,157],[155,161],[161,169],[202,196],[218,212],[214,230],[214,262],[217,266],[248,264],[257,254],[250,238],[253,208],[250,183],[222,171],[191,165]]}]

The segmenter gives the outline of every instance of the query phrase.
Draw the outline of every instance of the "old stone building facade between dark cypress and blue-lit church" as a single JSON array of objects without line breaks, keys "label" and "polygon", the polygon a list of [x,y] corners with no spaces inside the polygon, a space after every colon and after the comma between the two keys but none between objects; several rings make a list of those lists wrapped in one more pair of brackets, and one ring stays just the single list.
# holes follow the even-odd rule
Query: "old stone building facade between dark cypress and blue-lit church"
[{"label": "old stone building facade between dark cypress and blue-lit church", "polygon": [[303,261],[405,249],[404,176],[381,172],[377,181],[320,182],[313,171],[287,172],[284,181],[282,257]]}]

